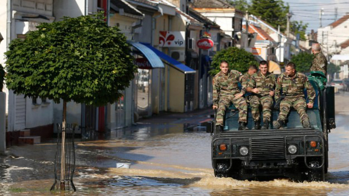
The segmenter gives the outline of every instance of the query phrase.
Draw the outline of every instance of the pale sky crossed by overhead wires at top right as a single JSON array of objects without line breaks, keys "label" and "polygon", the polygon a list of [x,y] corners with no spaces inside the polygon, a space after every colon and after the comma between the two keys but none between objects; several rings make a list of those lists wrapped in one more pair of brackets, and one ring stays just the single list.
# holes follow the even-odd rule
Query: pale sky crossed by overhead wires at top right
[{"label": "pale sky crossed by overhead wires at top right", "polygon": [[[337,8],[337,20],[349,12],[349,0],[283,0],[289,3],[292,12],[292,20],[309,23],[307,33],[320,27],[320,9],[324,8],[322,15],[322,27],[335,21]],[[343,32],[344,33],[344,32]],[[349,36],[349,32],[348,32]]]}]

